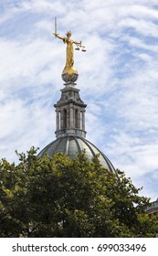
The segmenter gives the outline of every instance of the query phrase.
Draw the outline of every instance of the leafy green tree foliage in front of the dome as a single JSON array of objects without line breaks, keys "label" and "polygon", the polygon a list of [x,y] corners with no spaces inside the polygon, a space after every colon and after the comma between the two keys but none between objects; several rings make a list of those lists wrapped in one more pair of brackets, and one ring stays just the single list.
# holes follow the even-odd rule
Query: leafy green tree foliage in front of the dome
[{"label": "leafy green tree foliage in front of the dome", "polygon": [[[17,154],[17,153],[16,153]],[[32,148],[19,164],[0,162],[0,237],[153,237],[157,222],[149,198],[98,157],[37,157]]]}]

